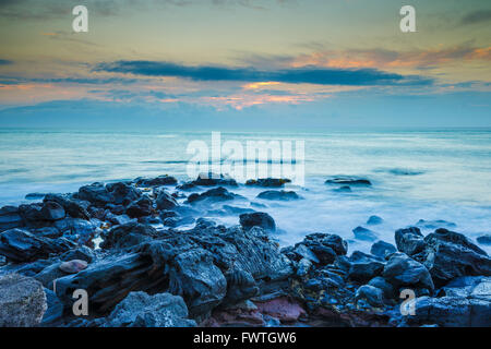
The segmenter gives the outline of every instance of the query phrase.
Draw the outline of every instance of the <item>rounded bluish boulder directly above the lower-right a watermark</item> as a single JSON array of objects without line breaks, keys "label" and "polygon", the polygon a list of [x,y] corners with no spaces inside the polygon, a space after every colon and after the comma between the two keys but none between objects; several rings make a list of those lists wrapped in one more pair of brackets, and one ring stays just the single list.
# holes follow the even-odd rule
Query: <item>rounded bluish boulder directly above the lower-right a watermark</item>
[{"label": "rounded bluish boulder directly above the lower-right a watermark", "polygon": [[395,287],[424,288],[433,292],[434,285],[428,269],[405,253],[396,252],[385,264],[382,276]]}]

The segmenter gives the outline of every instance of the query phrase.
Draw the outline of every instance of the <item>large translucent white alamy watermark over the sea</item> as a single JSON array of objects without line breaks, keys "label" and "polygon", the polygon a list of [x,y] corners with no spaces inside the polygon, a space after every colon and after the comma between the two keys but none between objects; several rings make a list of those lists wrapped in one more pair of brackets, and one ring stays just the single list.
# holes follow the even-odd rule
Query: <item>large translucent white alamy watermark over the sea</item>
[{"label": "large translucent white alamy watermark over the sea", "polygon": [[187,166],[190,178],[228,176],[237,181],[259,178],[287,178],[304,184],[304,141],[248,140],[221,142],[220,132],[212,132],[212,143],[195,140],[188,144],[192,156]]}]

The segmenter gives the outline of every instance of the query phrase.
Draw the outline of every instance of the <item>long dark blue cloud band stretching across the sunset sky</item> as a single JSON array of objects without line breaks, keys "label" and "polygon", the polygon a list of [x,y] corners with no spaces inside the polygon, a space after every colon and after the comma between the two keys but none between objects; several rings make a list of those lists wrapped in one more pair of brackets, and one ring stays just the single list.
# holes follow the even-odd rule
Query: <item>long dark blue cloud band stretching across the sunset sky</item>
[{"label": "long dark blue cloud band stretching across the sunset sky", "polygon": [[332,69],[302,67],[279,70],[228,68],[214,65],[182,65],[158,61],[115,61],[95,67],[95,71],[130,73],[145,76],[173,76],[204,82],[280,82],[316,85],[429,85],[431,80],[421,76],[404,76],[375,69]]}]

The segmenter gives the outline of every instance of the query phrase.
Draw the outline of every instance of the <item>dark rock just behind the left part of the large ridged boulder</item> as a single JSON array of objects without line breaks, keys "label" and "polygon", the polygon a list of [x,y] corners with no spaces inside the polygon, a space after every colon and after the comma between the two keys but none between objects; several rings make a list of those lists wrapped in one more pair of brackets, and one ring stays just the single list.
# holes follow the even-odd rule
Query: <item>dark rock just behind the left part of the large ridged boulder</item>
[{"label": "dark rock just behind the left part of the large ridged boulder", "polygon": [[157,230],[148,225],[129,222],[111,228],[104,234],[100,248],[108,249],[130,249],[145,241],[151,241],[158,237]]}]

